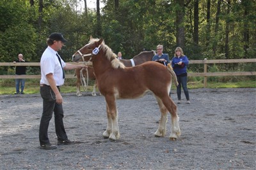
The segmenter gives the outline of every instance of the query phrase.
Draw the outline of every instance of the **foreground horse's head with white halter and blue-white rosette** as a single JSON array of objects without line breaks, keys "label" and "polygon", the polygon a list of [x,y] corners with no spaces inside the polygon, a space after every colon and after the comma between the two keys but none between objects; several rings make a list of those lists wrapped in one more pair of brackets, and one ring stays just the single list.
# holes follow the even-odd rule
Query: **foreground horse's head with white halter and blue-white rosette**
[{"label": "foreground horse's head with white halter and blue-white rosette", "polygon": [[103,39],[95,39],[90,38],[88,44],[84,45],[80,50],[72,55],[72,61],[79,62],[79,60],[88,61],[92,57],[92,55],[97,54],[99,52],[99,46],[101,45]]}]

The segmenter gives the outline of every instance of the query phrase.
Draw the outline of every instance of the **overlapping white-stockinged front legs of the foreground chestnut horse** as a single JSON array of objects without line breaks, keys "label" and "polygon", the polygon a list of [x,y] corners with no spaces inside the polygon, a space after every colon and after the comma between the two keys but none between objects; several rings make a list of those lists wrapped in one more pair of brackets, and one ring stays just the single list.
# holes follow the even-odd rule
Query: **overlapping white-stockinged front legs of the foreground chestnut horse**
[{"label": "overlapping white-stockinged front legs of the foreground chestnut horse", "polygon": [[[106,129],[106,133],[109,134],[109,139],[119,139],[120,132],[118,127],[118,114],[116,110],[116,101],[114,96],[105,96],[107,103],[107,114],[108,114],[108,127]],[[111,130],[110,130],[111,129]]]}]

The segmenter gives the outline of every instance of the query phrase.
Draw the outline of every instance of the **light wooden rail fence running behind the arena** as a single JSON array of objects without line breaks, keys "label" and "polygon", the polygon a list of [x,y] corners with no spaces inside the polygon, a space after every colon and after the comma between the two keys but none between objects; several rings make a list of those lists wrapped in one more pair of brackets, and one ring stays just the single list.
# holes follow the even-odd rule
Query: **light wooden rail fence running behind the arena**
[{"label": "light wooden rail fence running behind the arena", "polygon": [[[204,77],[204,87],[207,87],[207,77],[209,76],[255,76],[256,71],[246,71],[246,72],[216,72],[207,73],[207,64],[220,64],[220,63],[248,63],[256,62],[256,59],[228,59],[228,60],[189,60],[189,64],[204,64],[204,73],[188,73],[188,76],[203,76]],[[76,64],[70,62],[71,64]],[[13,63],[13,62],[0,62],[0,66],[40,66],[39,62],[23,62],[23,63]],[[15,79],[15,78],[41,78],[41,75],[0,75],[2,79]],[[65,78],[76,78],[74,74],[66,74]]]}]

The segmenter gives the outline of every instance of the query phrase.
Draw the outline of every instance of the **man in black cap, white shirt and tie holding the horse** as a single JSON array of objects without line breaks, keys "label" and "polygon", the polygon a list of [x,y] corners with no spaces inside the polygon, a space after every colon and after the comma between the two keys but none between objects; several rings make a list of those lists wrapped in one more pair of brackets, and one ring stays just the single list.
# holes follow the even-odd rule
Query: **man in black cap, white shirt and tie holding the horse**
[{"label": "man in black cap, white shirt and tie holding the horse", "polygon": [[43,113],[39,127],[40,149],[56,149],[56,145],[51,145],[48,138],[48,127],[53,112],[55,130],[58,138],[57,144],[74,144],[74,141],[68,139],[63,125],[63,99],[60,94],[60,86],[63,85],[65,81],[65,73],[63,69],[81,69],[82,67],[87,66],[84,64],[68,64],[61,59],[60,55],[58,55],[58,51],[61,50],[66,42],[67,40],[63,38],[61,33],[52,33],[49,38],[47,38],[48,46],[40,60],[40,94],[43,98]]}]

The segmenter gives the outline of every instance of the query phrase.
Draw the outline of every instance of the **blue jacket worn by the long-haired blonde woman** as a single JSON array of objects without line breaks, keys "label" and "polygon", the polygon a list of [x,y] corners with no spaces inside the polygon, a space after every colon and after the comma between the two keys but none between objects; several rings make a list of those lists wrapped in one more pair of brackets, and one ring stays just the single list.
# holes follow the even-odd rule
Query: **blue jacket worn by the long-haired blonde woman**
[{"label": "blue jacket worn by the long-haired blonde woman", "polygon": [[[177,64],[180,61],[182,61],[182,63],[184,63],[181,66]],[[183,57],[180,56],[179,58],[178,57],[173,57],[172,58],[173,71],[175,72],[175,74],[177,76],[179,76],[180,74],[187,73],[188,64],[189,64],[189,60],[188,60],[188,57],[186,55],[184,55]]]}]

